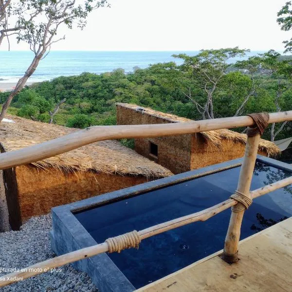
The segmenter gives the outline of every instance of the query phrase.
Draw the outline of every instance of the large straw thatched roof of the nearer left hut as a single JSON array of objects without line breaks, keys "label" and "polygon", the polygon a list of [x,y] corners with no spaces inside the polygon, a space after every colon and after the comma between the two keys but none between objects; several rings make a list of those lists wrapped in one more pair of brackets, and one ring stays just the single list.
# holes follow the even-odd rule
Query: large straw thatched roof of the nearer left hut
[{"label": "large straw thatched roof of the nearer left hut", "polygon": [[[17,150],[78,130],[16,116],[7,118],[15,123],[0,123],[0,144],[4,151]],[[32,164],[42,169],[54,167],[65,171],[91,170],[107,174],[142,175],[147,178],[172,175],[160,164],[150,161],[115,140],[92,143]]]}]

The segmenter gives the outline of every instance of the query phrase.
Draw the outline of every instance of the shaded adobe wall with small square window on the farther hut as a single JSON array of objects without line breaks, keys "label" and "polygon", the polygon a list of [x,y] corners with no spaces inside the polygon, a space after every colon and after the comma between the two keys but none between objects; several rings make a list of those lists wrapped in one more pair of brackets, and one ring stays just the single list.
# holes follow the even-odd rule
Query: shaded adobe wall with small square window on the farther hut
[{"label": "shaded adobe wall with small square window on the farther hut", "polygon": [[[167,124],[171,121],[117,105],[118,125]],[[149,154],[149,142],[158,145],[158,158]],[[135,151],[178,174],[190,170],[191,135],[135,139]]]}]

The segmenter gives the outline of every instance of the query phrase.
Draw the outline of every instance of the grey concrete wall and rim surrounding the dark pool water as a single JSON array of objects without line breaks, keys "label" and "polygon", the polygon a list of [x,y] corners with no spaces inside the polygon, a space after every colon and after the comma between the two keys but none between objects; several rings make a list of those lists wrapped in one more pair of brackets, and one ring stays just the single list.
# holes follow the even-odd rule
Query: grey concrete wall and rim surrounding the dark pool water
[{"label": "grey concrete wall and rim surrounding the dark pool water", "polygon": [[[266,164],[270,164],[271,166],[281,168],[283,170],[292,171],[291,165],[281,163],[273,159],[258,156],[257,160]],[[52,209],[54,229],[51,233],[52,248],[57,255],[61,255],[96,244],[96,241],[76,219],[73,213],[93,208],[101,204],[120,201],[125,198],[165,187],[169,184],[180,183],[204,175],[209,175],[220,170],[237,167],[241,163],[242,159],[236,159],[174,175],[172,177],[160,179],[157,181],[136,185],[119,191],[100,195],[98,197],[92,197],[90,199],[74,202],[68,205],[55,207]],[[224,242],[222,242],[222,247],[223,244]],[[91,280],[95,283],[96,287],[101,290],[101,292],[130,292],[135,290],[135,287],[117,268],[117,266],[113,263],[107,254],[101,254],[88,259],[77,261],[73,263],[73,266],[78,270],[87,272],[90,275]]]}]

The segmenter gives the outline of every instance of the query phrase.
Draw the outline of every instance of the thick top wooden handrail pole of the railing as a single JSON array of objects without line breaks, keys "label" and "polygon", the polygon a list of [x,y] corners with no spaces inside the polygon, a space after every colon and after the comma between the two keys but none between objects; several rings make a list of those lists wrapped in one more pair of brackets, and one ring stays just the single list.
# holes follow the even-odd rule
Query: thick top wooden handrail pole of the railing
[{"label": "thick top wooden handrail pole of the railing", "polygon": [[[270,113],[269,123],[288,120],[292,121],[292,110]],[[174,136],[253,124],[251,117],[241,116],[189,123],[90,127],[34,146],[2,153],[0,154],[0,169],[37,162],[97,141]]]}]

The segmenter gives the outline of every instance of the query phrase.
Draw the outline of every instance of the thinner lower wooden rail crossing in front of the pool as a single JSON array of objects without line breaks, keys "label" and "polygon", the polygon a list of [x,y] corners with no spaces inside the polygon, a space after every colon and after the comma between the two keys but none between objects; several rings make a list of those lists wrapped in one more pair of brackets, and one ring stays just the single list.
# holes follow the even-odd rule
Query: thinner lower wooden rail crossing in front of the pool
[{"label": "thinner lower wooden rail crossing in front of the pool", "polygon": [[[267,193],[270,193],[276,189],[285,187],[289,184],[292,184],[292,177],[289,177],[287,179],[278,181],[276,183],[272,183],[269,185],[266,185],[262,188],[256,189],[254,191],[251,192],[251,196],[252,198],[257,198],[260,196],[263,196]],[[189,224],[189,223],[193,223],[196,221],[205,221],[213,216],[215,216],[216,214],[234,206],[237,204],[237,201],[233,200],[233,199],[228,199],[226,201],[223,201],[213,207],[210,207],[208,209],[202,210],[200,212],[194,213],[194,214],[190,214],[187,216],[183,216],[181,218],[177,218],[177,219],[173,219],[161,224],[157,224],[155,226],[146,228],[144,230],[139,231],[139,235],[141,237],[141,239],[145,239],[160,233],[163,233],[165,231],[168,230],[172,230],[175,228],[178,228],[180,226]],[[50,272],[51,269],[55,269],[57,267],[60,267],[62,265],[65,264],[69,264],[72,263],[76,260],[81,260],[84,258],[88,258],[91,256],[96,256],[98,254],[101,253],[105,253],[109,251],[109,246],[106,242],[104,243],[100,243],[97,245],[93,245],[90,247],[86,247],[62,256],[56,256],[52,259],[48,259],[46,261],[37,263],[33,266],[27,267],[22,269],[23,271],[19,272],[15,272],[15,273],[11,273],[11,274],[6,274],[4,276],[0,276],[0,278],[5,277],[5,280],[0,280],[0,287],[4,287],[7,286],[9,284],[18,282],[20,280],[24,280],[27,279],[29,277],[32,276],[36,276],[38,274],[42,274],[42,273],[46,273],[46,272]]]}]

